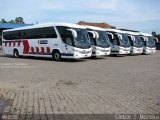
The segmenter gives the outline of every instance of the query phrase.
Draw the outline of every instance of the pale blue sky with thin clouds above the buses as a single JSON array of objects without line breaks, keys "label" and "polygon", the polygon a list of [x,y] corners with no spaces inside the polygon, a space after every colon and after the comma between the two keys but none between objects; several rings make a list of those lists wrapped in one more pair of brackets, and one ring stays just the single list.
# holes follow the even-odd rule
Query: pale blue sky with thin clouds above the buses
[{"label": "pale blue sky with thin clouds above the buses", "polygon": [[26,23],[106,22],[117,28],[160,33],[160,0],[0,0],[0,19]]}]

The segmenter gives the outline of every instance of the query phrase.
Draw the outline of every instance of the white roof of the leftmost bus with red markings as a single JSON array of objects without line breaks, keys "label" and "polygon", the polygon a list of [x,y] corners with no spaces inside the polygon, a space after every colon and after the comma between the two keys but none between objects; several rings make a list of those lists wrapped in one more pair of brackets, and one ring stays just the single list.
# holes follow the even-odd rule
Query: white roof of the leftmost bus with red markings
[{"label": "white roof of the leftmost bus with red markings", "polygon": [[71,28],[86,29],[85,27],[83,27],[81,25],[72,24],[72,23],[44,23],[44,24],[37,24],[37,25],[27,26],[27,27],[19,27],[19,28],[15,28],[15,29],[4,30],[3,32],[15,31],[15,30],[25,30],[25,29],[34,29],[34,28],[42,28],[42,27],[51,27],[51,26],[66,26],[66,27],[71,27]]}]

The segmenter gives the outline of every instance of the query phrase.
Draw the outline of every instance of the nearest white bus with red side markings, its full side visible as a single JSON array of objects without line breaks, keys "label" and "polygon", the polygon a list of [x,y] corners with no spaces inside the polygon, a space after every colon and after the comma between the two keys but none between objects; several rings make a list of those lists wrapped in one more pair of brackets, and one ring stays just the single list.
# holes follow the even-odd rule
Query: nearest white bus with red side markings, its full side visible
[{"label": "nearest white bus with red side markings, its full side visible", "polygon": [[76,24],[47,23],[4,30],[3,53],[19,56],[85,58],[92,54],[87,30]]}]

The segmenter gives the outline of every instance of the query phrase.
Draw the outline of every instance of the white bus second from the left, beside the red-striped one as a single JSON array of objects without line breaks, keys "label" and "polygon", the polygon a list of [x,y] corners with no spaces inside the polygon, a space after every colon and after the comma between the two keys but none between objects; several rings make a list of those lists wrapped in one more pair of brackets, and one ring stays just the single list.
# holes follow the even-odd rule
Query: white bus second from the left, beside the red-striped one
[{"label": "white bus second from the left, beside the red-striped one", "polygon": [[104,29],[95,26],[84,26],[90,37],[92,56],[110,55],[111,43]]}]

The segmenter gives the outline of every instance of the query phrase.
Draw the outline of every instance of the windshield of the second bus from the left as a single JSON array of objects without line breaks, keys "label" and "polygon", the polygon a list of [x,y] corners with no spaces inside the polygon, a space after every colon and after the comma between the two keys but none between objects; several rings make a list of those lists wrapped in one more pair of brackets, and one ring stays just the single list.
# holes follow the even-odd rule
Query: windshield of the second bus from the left
[{"label": "windshield of the second bus from the left", "polygon": [[104,31],[97,31],[97,32],[99,34],[99,38],[96,39],[97,46],[103,48],[110,47],[111,44],[107,33]]}]

